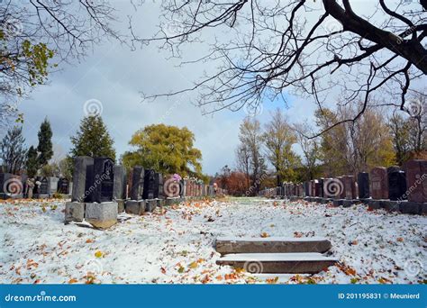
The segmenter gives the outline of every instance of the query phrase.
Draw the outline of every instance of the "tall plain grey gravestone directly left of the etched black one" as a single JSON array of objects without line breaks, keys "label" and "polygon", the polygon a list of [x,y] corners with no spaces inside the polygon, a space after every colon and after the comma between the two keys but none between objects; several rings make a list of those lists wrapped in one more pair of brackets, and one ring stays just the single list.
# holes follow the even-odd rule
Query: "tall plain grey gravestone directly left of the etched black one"
[{"label": "tall plain grey gravestone directly left of the etched black one", "polygon": [[71,202],[85,202],[89,196],[89,173],[93,173],[94,159],[79,156],[74,159],[73,189]]}]

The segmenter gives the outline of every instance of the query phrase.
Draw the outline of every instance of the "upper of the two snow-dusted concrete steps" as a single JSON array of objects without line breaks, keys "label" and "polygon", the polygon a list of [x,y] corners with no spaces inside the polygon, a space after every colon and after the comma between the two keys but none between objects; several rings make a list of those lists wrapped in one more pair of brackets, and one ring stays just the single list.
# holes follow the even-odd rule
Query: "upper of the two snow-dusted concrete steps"
[{"label": "upper of the two snow-dusted concrete steps", "polygon": [[229,253],[325,252],[331,241],[325,238],[218,238],[215,249],[222,255]]}]

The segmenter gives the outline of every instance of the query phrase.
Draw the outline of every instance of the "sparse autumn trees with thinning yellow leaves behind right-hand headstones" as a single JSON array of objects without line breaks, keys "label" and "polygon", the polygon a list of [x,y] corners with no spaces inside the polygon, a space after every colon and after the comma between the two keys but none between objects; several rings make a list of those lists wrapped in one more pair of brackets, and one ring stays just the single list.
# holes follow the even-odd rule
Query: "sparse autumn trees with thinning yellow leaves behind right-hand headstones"
[{"label": "sparse autumn trees with thinning yellow leaves behind right-hand headstones", "polygon": [[[217,181],[234,195],[256,195],[263,186],[285,181],[356,176],[377,166],[427,159],[425,96],[416,100],[412,112],[387,115],[382,109],[368,108],[354,122],[342,120],[358,113],[357,104],[344,104],[335,111],[319,109],[313,124],[291,123],[278,108],[264,126],[247,117],[240,126],[235,168],[222,168]],[[334,126],[337,122],[341,124]],[[313,138],[319,130],[326,131]]]}]

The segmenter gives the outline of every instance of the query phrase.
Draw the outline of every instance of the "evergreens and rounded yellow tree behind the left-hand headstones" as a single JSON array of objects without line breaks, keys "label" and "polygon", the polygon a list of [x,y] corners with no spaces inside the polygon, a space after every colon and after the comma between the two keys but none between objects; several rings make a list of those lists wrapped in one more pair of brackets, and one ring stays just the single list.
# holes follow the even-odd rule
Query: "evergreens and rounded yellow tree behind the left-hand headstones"
[{"label": "evergreens and rounded yellow tree behind the left-hand headstones", "polygon": [[[114,140],[100,114],[86,115],[74,136],[68,155],[55,157],[50,122],[45,119],[38,132],[37,146],[26,148],[23,126],[11,127],[0,143],[1,171],[28,174],[29,177],[71,178],[77,156],[108,157],[116,160]],[[119,159],[128,170],[140,165],[163,174],[197,177],[207,182],[202,172],[202,152],[194,147],[195,135],[186,127],[165,124],[149,125],[136,131],[126,151]],[[60,154],[60,153],[59,153]]]}]

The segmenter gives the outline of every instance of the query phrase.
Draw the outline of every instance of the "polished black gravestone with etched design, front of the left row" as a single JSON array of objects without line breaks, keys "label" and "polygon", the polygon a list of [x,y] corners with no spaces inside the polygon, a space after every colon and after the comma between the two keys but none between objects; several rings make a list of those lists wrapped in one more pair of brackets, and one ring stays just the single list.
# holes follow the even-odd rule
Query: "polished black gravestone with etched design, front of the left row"
[{"label": "polished black gravestone with etched design, front of the left row", "polygon": [[113,201],[114,160],[109,158],[94,159],[93,202],[102,204]]}]

